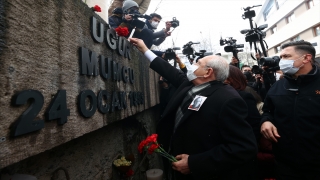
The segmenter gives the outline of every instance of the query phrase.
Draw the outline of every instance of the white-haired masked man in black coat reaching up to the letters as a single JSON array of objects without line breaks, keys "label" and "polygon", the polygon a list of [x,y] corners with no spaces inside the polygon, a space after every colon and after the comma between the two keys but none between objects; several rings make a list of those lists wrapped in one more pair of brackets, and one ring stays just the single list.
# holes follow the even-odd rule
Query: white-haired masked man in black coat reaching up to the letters
[{"label": "white-haired masked man in black coat reaching up to the letters", "polygon": [[[129,40],[151,61],[150,68],[177,88],[157,127],[159,143],[179,160],[172,163],[175,179],[247,179],[239,169],[256,156],[257,145],[245,121],[246,103],[222,83],[229,73],[226,59],[206,56],[186,76],[142,40]],[[197,111],[188,109],[196,95],[205,100]]]}]

